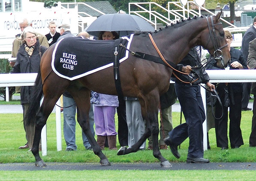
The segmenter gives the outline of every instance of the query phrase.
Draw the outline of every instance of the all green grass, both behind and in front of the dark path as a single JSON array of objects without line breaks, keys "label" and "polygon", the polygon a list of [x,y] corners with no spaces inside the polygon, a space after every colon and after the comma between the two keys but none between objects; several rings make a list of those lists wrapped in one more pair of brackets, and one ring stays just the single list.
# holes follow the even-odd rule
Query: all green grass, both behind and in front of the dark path
[{"label": "all green grass, both behind and in front of the dark path", "polygon": [[[241,130],[244,145],[240,149],[221,151],[216,147],[214,129],[209,131],[211,150],[205,151],[205,158],[211,162],[255,162],[256,148],[249,147],[252,111],[242,112]],[[173,124],[179,124],[180,113],[173,112]],[[0,163],[34,162],[34,157],[27,150],[19,150],[23,145],[25,132],[22,114],[0,114]],[[183,118],[184,122],[184,118]],[[117,123],[117,121],[116,121]],[[63,116],[62,116],[63,124]],[[116,125],[117,126],[117,125]],[[63,132],[62,132],[63,133]],[[57,152],[55,114],[51,114],[47,122],[47,155],[45,162],[81,162],[99,163],[99,158],[91,151],[84,149],[81,128],[76,127],[76,143],[78,150],[65,152],[65,141],[62,135],[62,149]],[[118,148],[120,145],[118,145]],[[187,158],[188,139],[181,144],[181,158],[176,159],[169,150],[161,150],[163,156],[171,162],[184,162]],[[152,151],[139,151],[129,155],[117,156],[116,151],[104,150],[111,163],[138,163],[159,161],[153,157]],[[241,176],[242,175],[242,176]],[[248,170],[81,170],[81,171],[0,171],[0,181],[254,181],[255,171]]]}]

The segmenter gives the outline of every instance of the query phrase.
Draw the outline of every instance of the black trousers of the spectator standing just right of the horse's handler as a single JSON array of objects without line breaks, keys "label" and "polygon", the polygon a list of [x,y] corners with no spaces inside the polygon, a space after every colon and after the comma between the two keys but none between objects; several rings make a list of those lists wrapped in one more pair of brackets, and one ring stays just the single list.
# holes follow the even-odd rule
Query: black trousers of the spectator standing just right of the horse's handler
[{"label": "black trousers of the spectator standing just right of the horse's handler", "polygon": [[[219,88],[219,87],[218,87]],[[219,88],[218,94],[222,105],[224,104],[224,89]],[[229,140],[231,148],[235,146],[241,146],[244,144],[242,132],[240,128],[241,123],[241,109],[242,109],[242,93],[234,93],[234,102],[235,105],[230,103],[229,106]],[[222,113],[219,102],[216,103],[215,116],[220,117]],[[215,119],[215,133],[217,147],[226,147],[228,148],[228,107],[223,106],[223,117],[221,119]]]}]

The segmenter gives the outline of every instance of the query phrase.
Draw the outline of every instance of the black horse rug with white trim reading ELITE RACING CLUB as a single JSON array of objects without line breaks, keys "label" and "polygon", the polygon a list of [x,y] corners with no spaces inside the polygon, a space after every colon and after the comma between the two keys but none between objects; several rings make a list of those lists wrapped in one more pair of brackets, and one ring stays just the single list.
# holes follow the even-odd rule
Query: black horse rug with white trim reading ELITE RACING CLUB
[{"label": "black horse rug with white trim reading ELITE RACING CLUB", "polygon": [[113,66],[115,46],[119,62],[128,58],[129,52],[119,44],[130,48],[133,34],[117,40],[90,40],[82,37],[66,37],[57,42],[51,67],[60,77],[75,80]]}]

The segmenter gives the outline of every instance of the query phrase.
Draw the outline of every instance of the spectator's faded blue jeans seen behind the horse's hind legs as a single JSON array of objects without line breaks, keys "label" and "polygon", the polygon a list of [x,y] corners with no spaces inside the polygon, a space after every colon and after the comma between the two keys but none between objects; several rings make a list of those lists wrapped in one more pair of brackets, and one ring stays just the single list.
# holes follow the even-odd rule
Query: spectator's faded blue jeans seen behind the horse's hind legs
[{"label": "spectator's faded blue jeans seen behind the horse's hind legs", "polygon": [[[65,108],[72,105],[69,108]],[[64,132],[64,138],[66,141],[66,148],[71,148],[73,150],[77,149],[77,146],[75,144],[75,112],[76,112],[76,105],[75,100],[70,97],[63,96],[63,132]],[[90,122],[90,130],[94,136],[94,129],[93,129],[93,106],[90,106],[90,112],[89,112],[89,122]],[[84,131],[82,130],[82,138],[83,138],[83,144],[86,149],[88,149],[91,145],[87,139],[87,137],[84,134]]]}]

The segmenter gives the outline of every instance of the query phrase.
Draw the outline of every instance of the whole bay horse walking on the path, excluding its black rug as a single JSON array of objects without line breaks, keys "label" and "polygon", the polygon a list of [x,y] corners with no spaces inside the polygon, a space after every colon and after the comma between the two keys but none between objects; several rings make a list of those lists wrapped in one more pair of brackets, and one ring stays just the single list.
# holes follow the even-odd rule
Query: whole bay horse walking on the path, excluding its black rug
[{"label": "whole bay horse walking on the path, excluding its black rug", "polygon": [[[220,15],[221,12],[216,16],[188,18],[171,26],[166,26],[165,29],[155,31],[151,35],[163,58],[174,64],[178,64],[191,48],[201,45],[211,55],[218,56],[218,66],[224,68],[230,62],[230,54],[226,46],[223,26],[220,23]],[[117,95],[113,66],[75,80],[62,78],[54,73],[51,67],[55,46],[54,44],[49,47],[42,56],[40,70],[34,86],[35,95],[32,102],[30,102],[30,108],[27,113],[27,122],[35,123],[35,136],[32,146],[32,153],[36,159],[35,165],[46,166],[39,156],[39,140],[42,127],[46,124],[61,94],[67,90],[75,99],[78,109],[78,123],[87,136],[94,154],[99,156],[99,163],[102,166],[110,166],[111,163],[102,153],[90,132],[88,114],[91,90],[103,94]],[[72,49],[72,47],[69,48]],[[130,44],[130,50],[140,51],[157,57],[160,56],[148,34],[134,35],[133,41]],[[154,157],[159,159],[162,167],[171,167],[171,163],[161,155],[158,146],[158,108],[159,96],[169,88],[172,69],[166,65],[130,54],[126,61],[120,63],[119,70],[123,95],[139,98],[142,117],[146,123],[146,131],[138,143],[130,148],[121,147],[117,155],[126,155],[138,151],[142,143],[152,134]],[[39,101],[42,95],[44,99],[40,107]]]}]

